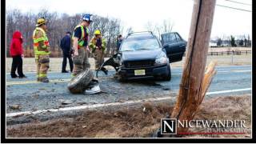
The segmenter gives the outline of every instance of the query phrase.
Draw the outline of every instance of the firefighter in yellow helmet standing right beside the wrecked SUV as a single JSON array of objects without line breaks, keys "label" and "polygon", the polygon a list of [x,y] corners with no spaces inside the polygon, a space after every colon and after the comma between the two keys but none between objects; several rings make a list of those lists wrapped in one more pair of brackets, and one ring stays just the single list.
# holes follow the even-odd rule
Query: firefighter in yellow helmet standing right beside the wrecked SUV
[{"label": "firefighter in yellow helmet standing right beside the wrecked SUV", "polygon": [[[95,59],[95,69],[98,70],[104,62],[104,51],[106,49],[106,40],[102,38],[100,30],[94,31],[94,38],[91,38],[89,47]],[[102,67],[102,71],[107,74],[107,70],[104,67]]]}]

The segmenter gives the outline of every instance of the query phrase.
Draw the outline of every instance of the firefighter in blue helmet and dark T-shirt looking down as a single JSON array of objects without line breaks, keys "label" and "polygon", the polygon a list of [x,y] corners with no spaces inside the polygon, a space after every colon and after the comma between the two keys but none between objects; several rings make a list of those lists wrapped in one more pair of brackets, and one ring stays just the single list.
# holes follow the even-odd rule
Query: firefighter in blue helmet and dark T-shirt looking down
[{"label": "firefighter in blue helmet and dark T-shirt looking down", "polygon": [[73,40],[73,62],[74,69],[71,77],[76,76],[82,70],[90,69],[90,62],[88,59],[88,39],[91,20],[91,14],[85,14],[82,17],[82,22],[74,28],[72,35]]}]

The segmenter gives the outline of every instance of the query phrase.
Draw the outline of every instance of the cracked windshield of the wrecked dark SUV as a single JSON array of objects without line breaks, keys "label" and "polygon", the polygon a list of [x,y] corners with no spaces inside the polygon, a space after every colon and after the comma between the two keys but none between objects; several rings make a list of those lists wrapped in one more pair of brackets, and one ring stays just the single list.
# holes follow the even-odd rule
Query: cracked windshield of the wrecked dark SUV
[{"label": "cracked windshield of the wrecked dark SUV", "polygon": [[121,51],[154,50],[159,47],[155,38],[128,38],[122,43]]}]

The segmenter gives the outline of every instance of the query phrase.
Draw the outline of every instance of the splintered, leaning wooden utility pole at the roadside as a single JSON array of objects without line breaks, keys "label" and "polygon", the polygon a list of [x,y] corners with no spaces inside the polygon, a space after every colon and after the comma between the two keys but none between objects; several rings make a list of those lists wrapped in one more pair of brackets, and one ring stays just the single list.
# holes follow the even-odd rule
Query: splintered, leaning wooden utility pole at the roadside
[{"label": "splintered, leaning wooden utility pole at the roadside", "polygon": [[[192,120],[200,106],[210,82],[216,73],[216,62],[210,63],[206,70],[210,32],[214,19],[216,0],[194,0],[190,37],[182,74],[178,99],[170,118]],[[188,128],[179,128],[184,133]]]}]

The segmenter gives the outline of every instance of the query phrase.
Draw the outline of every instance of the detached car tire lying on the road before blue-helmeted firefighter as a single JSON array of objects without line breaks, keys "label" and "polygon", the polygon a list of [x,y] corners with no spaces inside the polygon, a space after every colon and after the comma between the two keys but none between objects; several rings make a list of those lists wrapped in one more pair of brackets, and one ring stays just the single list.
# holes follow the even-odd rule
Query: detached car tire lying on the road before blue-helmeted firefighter
[{"label": "detached car tire lying on the road before blue-helmeted firefighter", "polygon": [[90,69],[86,69],[72,78],[68,83],[67,88],[72,94],[81,94],[86,90],[86,87],[93,78],[93,72]]}]

